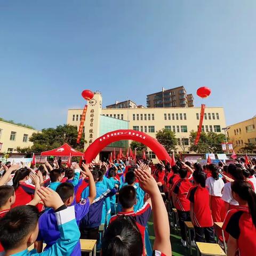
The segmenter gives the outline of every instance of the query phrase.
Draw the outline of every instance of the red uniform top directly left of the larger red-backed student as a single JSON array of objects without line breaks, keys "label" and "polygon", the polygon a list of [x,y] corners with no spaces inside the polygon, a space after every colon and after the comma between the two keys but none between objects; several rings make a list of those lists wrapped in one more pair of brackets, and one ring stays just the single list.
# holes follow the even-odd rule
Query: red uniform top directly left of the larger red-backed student
[{"label": "red uniform top directly left of the larger red-backed student", "polygon": [[190,202],[187,199],[189,188],[192,186],[188,179],[179,179],[172,186],[171,193],[177,194],[174,206],[177,210],[188,212],[190,210]]}]

